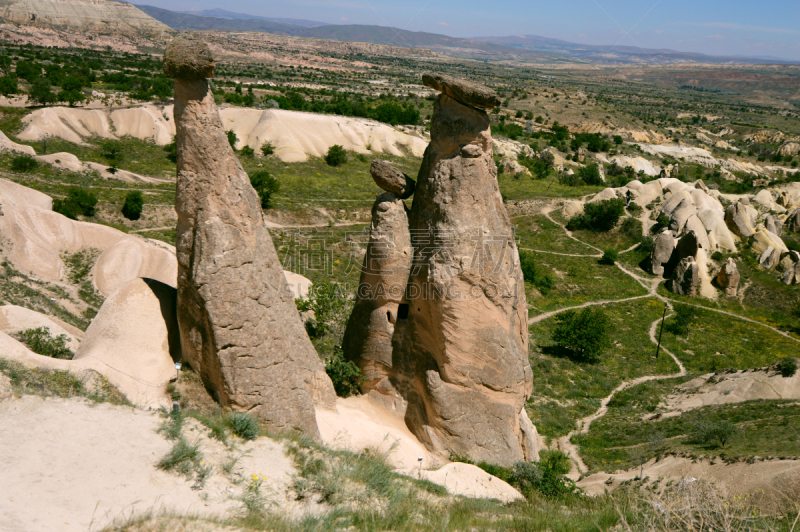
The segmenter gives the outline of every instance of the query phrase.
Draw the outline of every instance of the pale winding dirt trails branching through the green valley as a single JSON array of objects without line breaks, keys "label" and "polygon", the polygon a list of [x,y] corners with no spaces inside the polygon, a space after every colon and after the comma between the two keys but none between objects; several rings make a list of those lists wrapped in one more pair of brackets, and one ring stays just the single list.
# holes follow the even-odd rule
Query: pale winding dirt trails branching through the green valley
[{"label": "pale winding dirt trails branching through the green valley", "polygon": [[[598,248],[596,248],[596,247],[594,247],[594,246],[592,246],[590,244],[587,244],[586,242],[583,242],[582,240],[574,237],[572,235],[572,233],[569,230],[567,230],[566,227],[564,227],[562,224],[558,223],[557,221],[553,220],[550,217],[550,211],[551,210],[552,209],[545,209],[545,210],[542,211],[542,214],[545,217],[547,217],[548,220],[550,220],[554,224],[560,226],[564,230],[564,232],[567,234],[567,236],[569,238],[572,238],[573,240],[575,240],[575,241],[577,241],[577,242],[579,242],[579,243],[581,243],[581,244],[583,244],[585,246],[588,246],[588,247],[590,247],[592,249],[595,249],[597,251],[602,251],[602,250],[600,250],[600,249],[598,249]],[[635,248],[636,248],[636,246],[628,248],[625,251],[623,251],[623,253],[632,251]],[[538,250],[532,250],[532,251],[537,251],[539,253],[548,253],[546,251],[538,251]],[[549,252],[549,253],[551,253],[553,255],[564,255],[564,256],[569,256],[569,257],[586,257],[586,258],[597,258],[597,257],[600,256],[600,255],[571,255],[571,254],[556,253],[556,252]],[[672,300],[658,293],[658,287],[664,281],[664,279],[661,279],[661,278],[648,279],[648,278],[636,275],[634,272],[632,272],[630,270],[627,270],[625,267],[623,267],[619,263],[616,263],[616,266],[620,269],[620,271],[622,271],[626,275],[632,277],[637,283],[641,284],[644,288],[647,288],[648,289],[647,294],[642,295],[642,296],[628,297],[628,298],[615,299],[615,300],[590,301],[590,302],[583,303],[582,305],[577,305],[577,306],[573,306],[573,307],[567,307],[567,308],[563,308],[563,309],[554,310],[554,311],[547,312],[547,313],[544,313],[544,314],[540,314],[539,316],[535,316],[533,318],[530,318],[528,320],[528,325],[532,325],[534,323],[539,323],[541,321],[544,321],[544,320],[546,320],[548,318],[551,318],[551,317],[553,317],[553,316],[555,316],[557,314],[560,314],[562,312],[566,312],[568,310],[574,310],[574,309],[580,309],[580,308],[586,308],[586,307],[598,306],[598,305],[610,305],[610,304],[615,304],[615,303],[624,303],[624,302],[627,302],[627,301],[636,301],[636,300],[639,300],[639,299],[647,299],[647,298],[651,298],[651,297],[655,297],[655,298],[663,301],[664,304],[667,306],[667,308],[670,311],[674,310],[673,306],[672,306],[672,303],[673,303]],[[790,339],[800,343],[800,340],[798,340],[797,338],[791,336],[790,334],[788,334],[786,332],[780,331],[780,330],[778,330],[778,329],[776,329],[776,328],[774,328],[774,327],[772,327],[770,325],[767,325],[765,323],[761,323],[761,322],[758,322],[756,320],[753,320],[753,319],[750,319],[750,318],[746,318],[744,316],[740,316],[740,315],[735,314],[733,312],[728,312],[728,311],[725,311],[725,310],[719,310],[719,309],[704,307],[702,305],[697,305],[697,304],[693,304],[693,303],[684,303],[684,304],[692,306],[692,307],[696,307],[696,308],[699,308],[699,309],[703,309],[703,310],[709,310],[709,311],[712,311],[712,312],[725,314],[727,316],[731,316],[733,318],[738,318],[740,320],[747,321],[747,322],[753,323],[755,325],[760,325],[762,327],[766,327],[766,328],[772,330],[773,332],[780,334],[781,336],[784,336],[786,338],[790,338]],[[669,318],[669,317],[671,317],[673,315],[674,314],[672,312],[670,312],[670,314],[668,316],[666,316],[666,317]],[[656,338],[656,332],[658,330],[658,324],[659,324],[659,322],[661,322],[661,320],[662,320],[662,318],[658,318],[657,320],[655,320],[653,323],[650,324],[650,331],[649,331],[650,341],[652,341],[656,345],[658,345],[658,339]],[[677,373],[671,373],[671,374],[667,374],[667,375],[647,375],[647,376],[637,377],[636,379],[631,379],[631,380],[622,382],[622,384],[620,384],[619,386],[614,388],[611,391],[611,393],[609,393],[606,397],[604,397],[600,401],[600,408],[598,408],[593,414],[591,414],[591,415],[589,415],[589,416],[587,416],[585,418],[579,419],[576,422],[577,428],[575,430],[571,431],[566,436],[562,436],[561,438],[556,440],[556,448],[558,448],[559,450],[563,451],[567,456],[570,457],[570,459],[573,462],[573,468],[572,468],[572,470],[570,471],[570,473],[568,475],[570,478],[572,478],[573,480],[578,480],[578,478],[581,476],[581,474],[587,473],[589,471],[589,468],[586,466],[586,464],[584,463],[583,459],[580,456],[580,453],[578,452],[578,446],[575,445],[574,443],[572,443],[573,436],[577,436],[579,434],[588,434],[589,433],[589,429],[592,426],[592,423],[597,421],[598,419],[602,418],[603,416],[606,415],[606,413],[608,413],[608,404],[611,402],[611,400],[614,398],[614,396],[617,393],[619,393],[619,392],[621,392],[621,391],[623,391],[623,390],[625,390],[627,388],[630,388],[632,386],[638,386],[639,384],[643,384],[645,382],[651,382],[651,381],[657,381],[657,380],[666,380],[666,379],[674,379],[674,378],[677,378],[677,377],[683,377],[683,376],[685,376],[687,374],[686,367],[683,365],[683,363],[680,361],[680,359],[678,359],[678,357],[675,356],[674,353],[669,351],[663,345],[661,346],[661,350],[664,351],[667,355],[669,355],[670,358],[672,358],[672,360],[675,362],[675,365],[678,367],[678,372]]]}]

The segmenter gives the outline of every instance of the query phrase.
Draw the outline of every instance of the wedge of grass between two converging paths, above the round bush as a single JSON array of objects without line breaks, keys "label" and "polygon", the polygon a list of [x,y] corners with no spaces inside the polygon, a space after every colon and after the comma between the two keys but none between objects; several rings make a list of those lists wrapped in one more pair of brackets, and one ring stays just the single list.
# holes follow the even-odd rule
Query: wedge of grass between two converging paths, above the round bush
[{"label": "wedge of grass between two converging paths, above the round bush", "polygon": [[528,291],[531,316],[590,301],[624,299],[647,294],[647,290],[632,277],[615,266],[600,264],[598,258],[535,252],[532,255],[537,265],[557,273],[553,275],[555,288],[547,295]]}]

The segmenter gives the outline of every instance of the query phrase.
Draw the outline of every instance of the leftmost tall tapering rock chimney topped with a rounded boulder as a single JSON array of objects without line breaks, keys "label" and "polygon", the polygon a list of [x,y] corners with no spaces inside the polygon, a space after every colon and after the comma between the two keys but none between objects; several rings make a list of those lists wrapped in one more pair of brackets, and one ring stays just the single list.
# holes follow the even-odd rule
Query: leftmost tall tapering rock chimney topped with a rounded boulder
[{"label": "leftmost tall tapering rock chimney topped with a rounded boulder", "polygon": [[208,47],[193,35],[167,46],[183,357],[223,406],[318,438],[314,405],[334,404],[333,385],[300,321],[258,195],[228,142],[207,81],[213,68]]}]

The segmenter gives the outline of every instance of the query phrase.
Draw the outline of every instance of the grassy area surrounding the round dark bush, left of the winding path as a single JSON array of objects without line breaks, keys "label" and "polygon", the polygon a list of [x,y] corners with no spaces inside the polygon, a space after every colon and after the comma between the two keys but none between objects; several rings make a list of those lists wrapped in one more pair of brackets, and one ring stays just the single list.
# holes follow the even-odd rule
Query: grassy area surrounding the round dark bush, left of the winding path
[{"label": "grassy area surrounding the round dark bush, left of the winding path", "polygon": [[549,438],[565,435],[575,421],[593,413],[623,381],[644,375],[677,372],[671,358],[655,356],[650,341],[650,324],[661,317],[663,305],[655,298],[606,305],[614,325],[611,339],[615,346],[597,362],[570,358],[552,345],[555,320],[531,325],[531,367],[536,400],[527,406],[528,414],[541,434]]}]

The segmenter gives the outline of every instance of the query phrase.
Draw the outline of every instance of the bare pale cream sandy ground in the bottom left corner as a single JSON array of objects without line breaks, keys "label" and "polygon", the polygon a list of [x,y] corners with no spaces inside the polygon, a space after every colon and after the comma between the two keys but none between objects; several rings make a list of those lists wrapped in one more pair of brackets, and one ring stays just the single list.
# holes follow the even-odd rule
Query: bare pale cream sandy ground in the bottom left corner
[{"label": "bare pale cream sandy ground in the bottom left corner", "polygon": [[[93,531],[148,510],[225,514],[242,487],[221,474],[229,453],[194,422],[184,429],[215,466],[202,490],[156,469],[171,448],[156,433],[155,412],[81,399],[23,396],[0,403],[0,531]],[[240,444],[236,478],[268,480],[269,498],[286,507],[293,466],[283,445],[266,438]],[[239,454],[237,453],[237,455]]]}]

